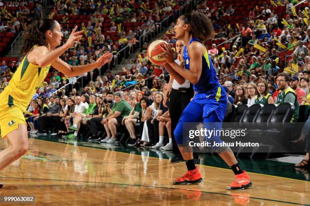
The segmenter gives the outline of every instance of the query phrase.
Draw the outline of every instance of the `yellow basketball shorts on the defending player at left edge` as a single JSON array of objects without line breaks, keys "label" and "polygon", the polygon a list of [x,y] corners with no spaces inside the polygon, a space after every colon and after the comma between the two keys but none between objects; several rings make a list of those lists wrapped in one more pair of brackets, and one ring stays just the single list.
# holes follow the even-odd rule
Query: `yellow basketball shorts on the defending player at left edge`
[{"label": "yellow basketball shorts on the defending player at left edge", "polygon": [[26,120],[21,107],[13,102],[10,95],[0,95],[0,129],[2,138],[6,137],[12,131],[18,129],[19,124],[25,124]]}]

